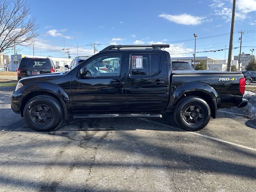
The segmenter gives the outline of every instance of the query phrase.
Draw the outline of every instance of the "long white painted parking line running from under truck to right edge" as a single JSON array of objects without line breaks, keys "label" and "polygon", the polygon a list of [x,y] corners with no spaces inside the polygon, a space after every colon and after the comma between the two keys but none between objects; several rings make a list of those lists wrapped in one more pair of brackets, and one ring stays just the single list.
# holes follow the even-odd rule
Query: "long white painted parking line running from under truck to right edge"
[{"label": "long white painted parking line running from under truck to right edge", "polygon": [[212,139],[212,140],[220,141],[220,142],[227,143],[227,144],[230,144],[230,145],[234,145],[234,146],[237,146],[237,147],[241,147],[241,148],[244,148],[244,149],[249,149],[249,150],[252,150],[252,151],[256,151],[256,149],[254,149],[254,148],[243,146],[243,145],[236,144],[236,143],[232,143],[232,142],[225,141],[225,140],[222,140],[222,139],[218,139],[218,138],[215,138],[215,137],[211,137],[211,136],[208,136],[208,135],[204,135],[204,134],[200,134],[200,133],[196,133],[196,132],[189,132],[189,131],[186,131],[186,130],[182,130],[180,128],[176,128],[174,126],[154,122],[154,121],[143,119],[143,118],[138,118],[138,119],[143,120],[143,121],[147,121],[147,122],[150,122],[150,123],[154,123],[154,124],[157,124],[157,125],[169,127],[169,128],[172,128],[172,129],[180,130],[180,131],[183,131],[183,132],[187,132],[187,133],[190,133],[190,134],[193,134],[193,135],[198,135],[198,136],[202,136],[202,137],[209,138],[209,139]]}]

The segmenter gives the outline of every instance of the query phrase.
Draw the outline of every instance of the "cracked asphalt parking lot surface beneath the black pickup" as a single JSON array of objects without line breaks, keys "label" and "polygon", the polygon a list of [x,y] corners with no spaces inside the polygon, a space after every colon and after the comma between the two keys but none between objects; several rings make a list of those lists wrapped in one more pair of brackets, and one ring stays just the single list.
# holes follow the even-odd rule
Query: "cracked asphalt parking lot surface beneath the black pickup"
[{"label": "cracked asphalt parking lot surface beneath the black pickup", "polygon": [[256,191],[256,124],[242,110],[222,109],[198,132],[164,116],[40,133],[11,111],[13,90],[0,89],[0,191]]}]

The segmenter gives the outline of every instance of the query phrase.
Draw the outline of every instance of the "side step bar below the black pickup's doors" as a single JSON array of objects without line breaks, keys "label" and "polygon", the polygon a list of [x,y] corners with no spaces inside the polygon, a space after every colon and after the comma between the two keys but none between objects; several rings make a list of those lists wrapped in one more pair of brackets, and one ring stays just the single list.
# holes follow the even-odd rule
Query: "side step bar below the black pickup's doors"
[{"label": "side step bar below the black pickup's doors", "polygon": [[161,114],[92,114],[92,115],[74,115],[74,119],[88,119],[88,118],[162,118]]}]

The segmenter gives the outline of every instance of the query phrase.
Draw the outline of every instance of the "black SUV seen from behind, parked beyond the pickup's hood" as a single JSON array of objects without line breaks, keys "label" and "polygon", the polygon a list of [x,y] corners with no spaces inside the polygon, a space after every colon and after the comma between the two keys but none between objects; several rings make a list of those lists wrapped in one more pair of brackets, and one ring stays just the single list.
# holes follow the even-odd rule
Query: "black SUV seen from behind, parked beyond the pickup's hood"
[{"label": "black SUV seen from behind, parked beyond the pickup's hood", "polygon": [[20,61],[17,69],[18,80],[32,75],[56,72],[60,66],[55,66],[50,58],[27,58]]}]

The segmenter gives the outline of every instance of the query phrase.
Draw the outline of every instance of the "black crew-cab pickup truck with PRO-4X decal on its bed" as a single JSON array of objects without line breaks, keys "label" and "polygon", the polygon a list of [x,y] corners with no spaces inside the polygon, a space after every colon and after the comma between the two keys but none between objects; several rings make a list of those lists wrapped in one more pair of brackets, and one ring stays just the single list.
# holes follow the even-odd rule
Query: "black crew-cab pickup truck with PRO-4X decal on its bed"
[{"label": "black crew-cab pickup truck with PRO-4X decal on its bed", "polygon": [[[172,71],[169,45],[112,45],[66,72],[22,78],[11,107],[36,131],[69,118],[161,118],[204,128],[220,108],[244,107],[240,72]],[[104,72],[99,66],[105,65]]]}]

